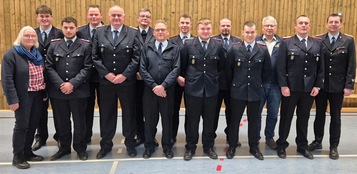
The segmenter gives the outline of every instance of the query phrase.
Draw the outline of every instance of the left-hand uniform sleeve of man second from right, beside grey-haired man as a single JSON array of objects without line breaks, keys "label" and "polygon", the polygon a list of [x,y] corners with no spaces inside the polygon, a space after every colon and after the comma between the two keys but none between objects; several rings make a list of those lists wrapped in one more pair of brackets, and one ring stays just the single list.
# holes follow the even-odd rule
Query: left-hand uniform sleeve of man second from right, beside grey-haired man
[{"label": "left-hand uniform sleeve of man second from right, beside grey-haired man", "polygon": [[286,72],[286,59],[287,59],[287,52],[286,52],[286,43],[285,40],[282,40],[279,45],[278,55],[276,58],[276,76],[278,80],[278,87],[286,87],[288,86],[287,82],[287,72]]}]

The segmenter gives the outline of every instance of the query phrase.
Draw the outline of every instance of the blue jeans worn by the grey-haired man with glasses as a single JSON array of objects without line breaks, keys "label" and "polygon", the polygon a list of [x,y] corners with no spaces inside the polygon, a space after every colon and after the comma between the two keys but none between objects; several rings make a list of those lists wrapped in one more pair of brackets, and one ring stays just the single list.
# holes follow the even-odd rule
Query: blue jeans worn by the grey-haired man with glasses
[{"label": "blue jeans worn by the grey-haired man with glasses", "polygon": [[278,112],[281,101],[281,89],[278,87],[277,83],[263,83],[262,86],[263,98],[260,103],[260,113],[258,116],[258,140],[260,137],[260,130],[262,129],[262,111],[267,103],[267,118],[265,125],[265,140],[272,140],[275,133],[276,122],[278,121]]}]

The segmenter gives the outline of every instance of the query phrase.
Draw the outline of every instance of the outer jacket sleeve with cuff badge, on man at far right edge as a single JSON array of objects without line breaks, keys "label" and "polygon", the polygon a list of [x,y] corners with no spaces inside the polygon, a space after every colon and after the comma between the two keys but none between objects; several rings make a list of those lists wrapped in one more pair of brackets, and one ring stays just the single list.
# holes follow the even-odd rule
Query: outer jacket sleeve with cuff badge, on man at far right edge
[{"label": "outer jacket sleeve with cuff badge, on man at far right edge", "polygon": [[351,38],[348,47],[349,50],[347,56],[347,74],[345,88],[354,89],[356,78],[356,47],[355,40],[353,38]]}]

